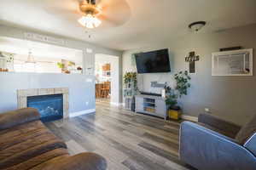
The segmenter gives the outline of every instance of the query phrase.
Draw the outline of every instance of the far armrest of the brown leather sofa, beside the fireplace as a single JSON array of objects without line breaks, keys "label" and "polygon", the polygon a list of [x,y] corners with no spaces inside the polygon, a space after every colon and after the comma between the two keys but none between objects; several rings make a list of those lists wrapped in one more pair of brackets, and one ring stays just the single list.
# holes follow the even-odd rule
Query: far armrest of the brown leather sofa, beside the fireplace
[{"label": "far armrest of the brown leather sofa, beside the fireplace", "polygon": [[38,110],[25,108],[0,114],[0,130],[40,119]]}]

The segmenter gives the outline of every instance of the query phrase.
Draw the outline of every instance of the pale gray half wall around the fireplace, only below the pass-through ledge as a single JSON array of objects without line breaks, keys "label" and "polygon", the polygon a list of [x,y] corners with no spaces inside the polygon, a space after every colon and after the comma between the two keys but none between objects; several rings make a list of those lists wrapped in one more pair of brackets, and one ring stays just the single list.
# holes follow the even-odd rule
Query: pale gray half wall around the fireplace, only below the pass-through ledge
[{"label": "pale gray half wall around the fireplace, only below the pass-through ledge", "polygon": [[69,88],[69,112],[95,109],[93,76],[0,73],[0,113],[17,109],[17,89]]}]

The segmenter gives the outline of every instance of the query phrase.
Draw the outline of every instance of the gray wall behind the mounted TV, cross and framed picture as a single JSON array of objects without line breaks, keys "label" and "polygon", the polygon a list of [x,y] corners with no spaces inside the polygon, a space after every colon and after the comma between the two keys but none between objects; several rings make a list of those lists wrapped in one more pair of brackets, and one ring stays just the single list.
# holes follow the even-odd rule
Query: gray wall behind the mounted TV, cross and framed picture
[{"label": "gray wall behind the mounted TV, cross and framed picture", "polygon": [[[188,68],[184,57],[190,51],[200,54],[197,62],[197,73],[192,75],[192,88],[189,94],[180,100],[183,114],[198,116],[204,108],[210,108],[212,114],[224,119],[244,124],[256,114],[256,59],[254,57],[253,77],[212,77],[212,53],[218,48],[242,46],[256,49],[256,25],[234,28],[212,33],[191,33],[173,42],[152,44],[152,47],[125,51],[123,54],[123,74],[126,71],[136,71],[132,65],[131,54],[160,48],[169,48],[172,73],[145,74],[143,88],[150,88],[150,82],[169,82],[173,84],[172,76],[177,71]],[[254,51],[255,56],[255,51]]]}]

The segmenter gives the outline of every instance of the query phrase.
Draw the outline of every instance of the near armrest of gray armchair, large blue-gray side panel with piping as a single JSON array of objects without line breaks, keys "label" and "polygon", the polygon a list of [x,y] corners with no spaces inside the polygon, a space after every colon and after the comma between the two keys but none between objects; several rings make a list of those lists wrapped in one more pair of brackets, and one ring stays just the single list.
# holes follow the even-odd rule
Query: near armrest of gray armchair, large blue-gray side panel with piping
[{"label": "near armrest of gray armchair, large blue-gray side panel with piping", "polygon": [[206,127],[183,122],[180,159],[198,169],[256,169],[256,158],[246,148]]}]

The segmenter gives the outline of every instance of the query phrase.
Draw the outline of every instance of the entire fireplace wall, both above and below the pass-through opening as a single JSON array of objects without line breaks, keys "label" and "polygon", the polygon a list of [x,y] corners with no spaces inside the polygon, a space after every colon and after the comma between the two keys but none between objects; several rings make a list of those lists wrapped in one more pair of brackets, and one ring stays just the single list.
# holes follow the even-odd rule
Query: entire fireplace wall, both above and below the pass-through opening
[{"label": "entire fireplace wall, both above and below the pass-through opening", "polygon": [[[65,44],[61,45],[62,47],[83,50],[84,68],[94,68],[95,54],[109,54],[118,57],[122,55],[122,52],[117,50],[102,48],[87,42],[69,39],[67,37],[58,37],[47,32],[38,32],[9,26],[0,26],[0,37],[24,39],[25,32],[34,32],[45,36],[62,38],[65,40]],[[93,53],[86,53],[86,48],[91,48]],[[16,109],[16,90],[26,88],[67,87],[70,90],[70,112],[95,109],[95,77],[87,75],[86,72],[85,75],[0,72],[0,80],[0,112]]]}]

